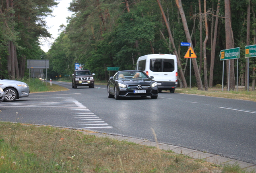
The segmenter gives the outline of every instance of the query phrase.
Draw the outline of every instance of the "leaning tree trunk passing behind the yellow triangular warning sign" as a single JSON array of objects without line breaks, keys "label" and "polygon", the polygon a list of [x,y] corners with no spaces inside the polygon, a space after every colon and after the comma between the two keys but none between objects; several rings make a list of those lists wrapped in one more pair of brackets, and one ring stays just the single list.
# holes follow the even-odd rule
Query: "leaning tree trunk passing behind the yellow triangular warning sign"
[{"label": "leaning tree trunk passing behind the yellow triangular warning sign", "polygon": [[[192,40],[191,40],[191,37],[190,37],[190,34],[189,34],[188,24],[187,24],[187,21],[186,21],[186,17],[185,17],[185,14],[184,14],[184,10],[183,10],[183,7],[182,7],[181,0],[176,0],[176,4],[177,4],[178,9],[180,11],[180,16],[182,18],[182,23],[183,23],[183,26],[184,26],[187,41],[191,43],[191,47],[193,48]],[[200,73],[199,73],[199,70],[198,70],[198,65],[197,65],[197,62],[196,62],[196,58],[192,58],[192,63],[193,63],[193,67],[194,67],[194,72],[195,72],[195,76],[196,76],[196,84],[197,84],[198,90],[203,90],[202,80],[201,80],[201,76],[200,76]]]}]

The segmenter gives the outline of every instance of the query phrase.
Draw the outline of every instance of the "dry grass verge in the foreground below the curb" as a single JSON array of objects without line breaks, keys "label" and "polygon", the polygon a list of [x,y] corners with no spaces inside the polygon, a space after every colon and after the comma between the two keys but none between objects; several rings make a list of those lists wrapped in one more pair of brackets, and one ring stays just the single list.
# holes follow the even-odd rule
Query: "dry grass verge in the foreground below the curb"
[{"label": "dry grass verge in the foreground below the curb", "polygon": [[81,131],[4,122],[0,131],[2,173],[225,172],[202,160]]}]

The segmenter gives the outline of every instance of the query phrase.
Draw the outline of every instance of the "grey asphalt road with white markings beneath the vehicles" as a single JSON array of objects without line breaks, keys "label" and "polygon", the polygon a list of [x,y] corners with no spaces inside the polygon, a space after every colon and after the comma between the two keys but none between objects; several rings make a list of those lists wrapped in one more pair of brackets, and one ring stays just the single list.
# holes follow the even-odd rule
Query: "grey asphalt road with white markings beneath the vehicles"
[{"label": "grey asphalt road with white markings beneath the vehicles", "polygon": [[158,99],[107,97],[94,89],[53,82],[70,91],[33,93],[0,103],[0,121],[81,128],[205,151],[256,164],[256,102],[159,93]]}]

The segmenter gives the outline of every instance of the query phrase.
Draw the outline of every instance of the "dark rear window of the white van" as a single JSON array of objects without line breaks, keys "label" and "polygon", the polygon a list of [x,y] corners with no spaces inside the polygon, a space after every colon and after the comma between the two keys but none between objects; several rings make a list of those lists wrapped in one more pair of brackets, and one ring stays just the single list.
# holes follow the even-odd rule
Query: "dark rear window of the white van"
[{"label": "dark rear window of the white van", "polygon": [[173,59],[150,59],[149,69],[153,72],[173,72]]}]

